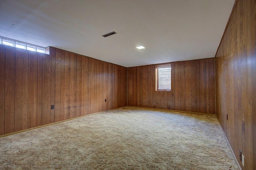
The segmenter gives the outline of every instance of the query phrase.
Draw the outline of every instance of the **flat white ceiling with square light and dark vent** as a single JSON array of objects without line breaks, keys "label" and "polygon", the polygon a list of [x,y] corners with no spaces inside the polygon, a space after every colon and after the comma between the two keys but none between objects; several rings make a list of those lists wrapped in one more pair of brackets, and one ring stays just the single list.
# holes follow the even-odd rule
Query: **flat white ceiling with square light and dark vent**
[{"label": "flat white ceiling with square light and dark vent", "polygon": [[126,67],[210,58],[234,1],[0,0],[0,36]]}]

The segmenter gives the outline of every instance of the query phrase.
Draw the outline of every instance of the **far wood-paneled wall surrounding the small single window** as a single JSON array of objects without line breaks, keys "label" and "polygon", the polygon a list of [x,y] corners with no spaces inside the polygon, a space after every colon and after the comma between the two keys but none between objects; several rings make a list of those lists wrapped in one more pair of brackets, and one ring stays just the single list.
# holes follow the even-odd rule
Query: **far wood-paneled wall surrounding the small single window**
[{"label": "far wood-paneled wall surrounding the small single window", "polygon": [[157,64],[127,68],[128,105],[215,113],[214,58],[170,64],[171,91],[156,91]]}]

